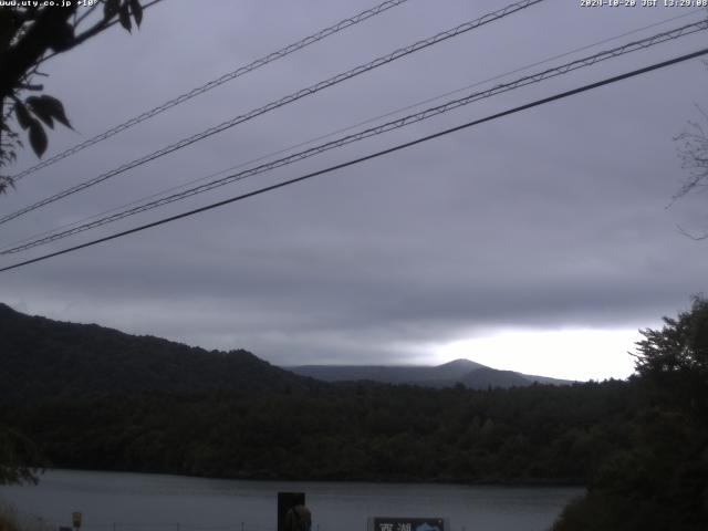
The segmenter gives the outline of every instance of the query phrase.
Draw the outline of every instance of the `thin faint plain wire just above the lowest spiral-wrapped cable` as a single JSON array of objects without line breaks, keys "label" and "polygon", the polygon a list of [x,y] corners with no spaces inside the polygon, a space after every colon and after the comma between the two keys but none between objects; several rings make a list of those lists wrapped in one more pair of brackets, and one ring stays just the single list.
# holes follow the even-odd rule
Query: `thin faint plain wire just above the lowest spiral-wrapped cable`
[{"label": "thin faint plain wire just above the lowest spiral-wrapped cable", "polygon": [[3,254],[2,251],[9,250],[12,247],[19,246],[20,243],[24,243],[25,241],[30,241],[30,240],[40,238],[42,236],[51,235],[52,232],[55,232],[55,231],[62,230],[62,229],[66,229],[69,227],[75,227],[75,226],[79,226],[79,225],[83,225],[86,221],[90,221],[92,219],[96,219],[96,218],[103,217],[103,216],[105,216],[107,214],[115,212],[117,210],[132,207],[134,205],[138,205],[142,201],[147,201],[148,199],[154,199],[156,197],[160,197],[160,196],[163,196],[165,194],[169,194],[170,191],[175,191],[175,190],[178,190],[180,188],[185,188],[185,187],[187,187],[189,185],[194,185],[196,183],[205,181],[205,180],[210,179],[212,177],[217,177],[219,175],[223,175],[223,174],[226,174],[228,171],[232,171],[235,169],[242,168],[244,166],[249,166],[251,164],[260,163],[261,160],[267,160],[267,159],[269,159],[271,157],[275,157],[278,155],[282,155],[282,154],[285,154],[288,152],[292,152],[293,149],[296,149],[299,147],[303,147],[303,146],[306,146],[306,145],[310,145],[310,144],[314,144],[315,142],[323,140],[325,138],[330,138],[330,137],[332,137],[334,135],[339,135],[341,133],[346,133],[347,131],[355,129],[356,127],[361,127],[362,125],[367,125],[367,124],[377,122],[377,121],[379,121],[382,118],[387,118],[389,116],[394,116],[396,114],[403,113],[404,111],[409,111],[412,108],[419,107],[420,105],[425,105],[427,103],[436,102],[438,100],[441,100],[441,98],[447,97],[447,96],[451,96],[454,94],[459,94],[460,92],[467,91],[469,88],[473,88],[476,86],[485,85],[485,84],[490,83],[492,81],[497,81],[497,80],[507,77],[507,76],[509,76],[511,74],[523,72],[525,70],[532,69],[533,66],[539,66],[541,64],[550,63],[551,61],[554,61],[556,59],[566,58],[566,56],[572,55],[574,53],[582,52],[582,51],[585,51],[585,50],[590,50],[591,48],[598,46],[600,44],[605,44],[607,42],[616,41],[617,39],[622,39],[623,37],[633,35],[633,34],[639,33],[642,31],[645,31],[645,30],[648,30],[648,29],[652,29],[652,28],[656,28],[658,25],[664,25],[664,24],[666,24],[668,22],[673,22],[673,21],[678,20],[678,19],[685,19],[686,17],[694,15],[694,14],[700,12],[700,11],[702,11],[702,9],[696,9],[696,10],[689,11],[687,13],[678,14],[676,17],[670,17],[668,19],[664,19],[664,20],[660,20],[658,22],[654,22],[652,24],[644,25],[642,28],[637,28],[637,29],[634,29],[634,30],[631,30],[631,31],[626,31],[624,33],[620,33],[618,35],[614,35],[614,37],[611,37],[611,38],[607,38],[607,39],[603,39],[603,40],[594,42],[592,44],[586,44],[586,45],[583,45],[583,46],[580,46],[580,48],[574,48],[573,50],[570,50],[568,52],[563,52],[563,53],[558,54],[558,55],[553,55],[551,58],[546,58],[546,59],[541,60],[541,61],[537,61],[535,63],[527,64],[525,66],[521,66],[521,67],[508,71],[508,72],[504,72],[502,74],[494,75],[493,77],[488,77],[486,80],[478,81],[478,82],[475,82],[475,83],[469,84],[469,85],[465,85],[465,86],[462,86],[460,88],[456,88],[454,91],[449,91],[449,92],[446,92],[444,94],[439,94],[437,96],[433,96],[433,97],[428,97],[428,98],[423,100],[423,101],[418,101],[416,103],[406,105],[404,107],[398,107],[398,108],[396,108],[394,111],[389,111],[389,112],[387,112],[385,114],[379,114],[377,116],[367,118],[367,119],[365,119],[363,122],[358,122],[356,124],[348,125],[346,127],[343,127],[343,128],[340,128],[340,129],[336,129],[336,131],[332,131],[332,132],[326,133],[324,135],[320,135],[320,136],[316,136],[314,138],[310,138],[310,139],[304,140],[304,142],[299,142],[298,144],[291,145],[289,147],[281,148],[281,149],[278,149],[275,152],[268,153],[266,155],[261,155],[261,156],[259,156],[257,158],[252,158],[250,160],[246,160],[246,162],[239,163],[239,164],[233,165],[233,166],[229,166],[228,168],[220,169],[219,171],[215,171],[215,173],[208,174],[208,175],[199,177],[197,179],[188,180],[188,181],[183,183],[180,185],[176,185],[176,186],[171,186],[171,187],[166,188],[166,189],[162,189],[162,190],[156,191],[154,194],[150,194],[148,196],[144,196],[144,197],[140,197],[138,199],[135,199],[135,200],[133,200],[131,202],[123,204],[123,205],[119,205],[117,207],[113,207],[113,208],[111,208],[108,210],[104,210],[102,212],[87,216],[87,217],[82,218],[82,219],[80,219],[77,221],[72,221],[70,223],[64,223],[64,225],[61,225],[59,227],[54,227],[53,229],[49,229],[49,230],[45,230],[45,231],[42,231],[42,232],[39,232],[39,233],[35,233],[35,235],[29,236],[29,237],[22,238],[20,240],[15,240],[12,243],[9,243],[9,244],[2,247],[0,249],[0,254]]}]

